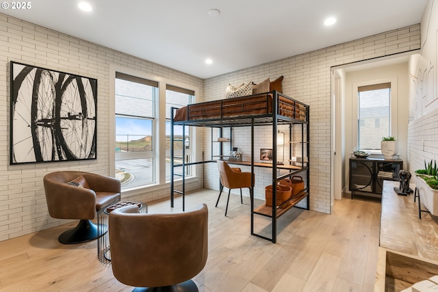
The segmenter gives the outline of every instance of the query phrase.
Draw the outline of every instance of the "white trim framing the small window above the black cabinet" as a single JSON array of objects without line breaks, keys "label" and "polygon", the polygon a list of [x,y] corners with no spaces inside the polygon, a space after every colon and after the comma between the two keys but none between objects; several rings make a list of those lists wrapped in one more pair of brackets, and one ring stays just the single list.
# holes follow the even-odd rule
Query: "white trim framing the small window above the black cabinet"
[{"label": "white trim framing the small window above the black cabinet", "polygon": [[[352,127],[352,148],[357,147],[357,118],[358,118],[358,88],[361,86],[381,84],[381,83],[391,83],[391,98],[390,98],[390,124],[389,124],[389,133],[391,136],[394,136],[396,140],[398,140],[398,84],[397,77],[388,77],[383,79],[374,79],[369,81],[362,81],[358,83],[353,83],[353,92],[352,92],[352,121],[355,123],[355,126]],[[371,150],[372,155],[381,155],[380,150]]]}]

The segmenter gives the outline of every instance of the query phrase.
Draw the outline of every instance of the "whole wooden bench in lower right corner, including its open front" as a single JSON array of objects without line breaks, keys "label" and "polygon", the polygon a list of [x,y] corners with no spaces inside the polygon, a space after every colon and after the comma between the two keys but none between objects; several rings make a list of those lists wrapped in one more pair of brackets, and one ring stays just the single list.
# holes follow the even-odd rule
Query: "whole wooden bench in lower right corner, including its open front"
[{"label": "whole wooden bench in lower right corner, including its open front", "polygon": [[374,292],[402,291],[438,275],[438,220],[429,213],[420,219],[414,195],[398,196],[394,187],[399,183],[383,183]]}]

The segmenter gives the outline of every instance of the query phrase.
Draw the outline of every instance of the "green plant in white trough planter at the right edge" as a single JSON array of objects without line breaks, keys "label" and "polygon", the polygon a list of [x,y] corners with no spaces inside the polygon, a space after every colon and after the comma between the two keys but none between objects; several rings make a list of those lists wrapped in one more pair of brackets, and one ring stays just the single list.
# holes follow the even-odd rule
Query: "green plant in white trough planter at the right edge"
[{"label": "green plant in white trough planter at the right edge", "polygon": [[415,170],[417,194],[421,202],[433,215],[438,215],[438,168],[437,161],[424,161],[424,169]]}]

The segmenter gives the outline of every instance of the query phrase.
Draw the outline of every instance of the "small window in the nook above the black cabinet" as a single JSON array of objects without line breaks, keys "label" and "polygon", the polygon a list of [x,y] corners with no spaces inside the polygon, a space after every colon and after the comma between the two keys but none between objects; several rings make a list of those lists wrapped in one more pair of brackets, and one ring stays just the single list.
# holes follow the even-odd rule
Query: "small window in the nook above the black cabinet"
[{"label": "small window in the nook above the black cabinet", "polygon": [[359,149],[379,150],[382,137],[391,135],[391,83],[360,86],[358,98]]}]

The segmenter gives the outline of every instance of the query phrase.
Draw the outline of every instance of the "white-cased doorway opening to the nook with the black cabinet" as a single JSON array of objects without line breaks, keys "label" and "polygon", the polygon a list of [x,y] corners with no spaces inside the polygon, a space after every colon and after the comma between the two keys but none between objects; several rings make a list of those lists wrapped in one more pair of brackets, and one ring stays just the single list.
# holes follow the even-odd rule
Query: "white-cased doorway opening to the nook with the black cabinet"
[{"label": "white-cased doorway opening to the nook with the black cabinet", "polygon": [[[357,84],[376,79],[396,80],[394,108],[399,158],[407,163],[409,118],[409,62],[417,52],[332,67],[331,70],[331,204],[348,191],[348,159],[357,146]],[[356,91],[355,91],[356,88]],[[355,99],[356,98],[356,99]],[[356,117],[356,118],[355,118]]]}]

